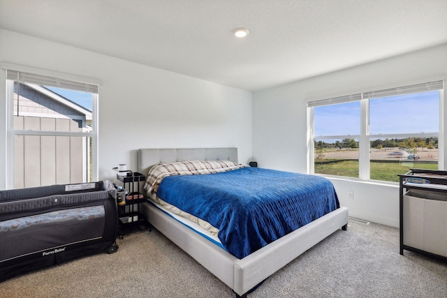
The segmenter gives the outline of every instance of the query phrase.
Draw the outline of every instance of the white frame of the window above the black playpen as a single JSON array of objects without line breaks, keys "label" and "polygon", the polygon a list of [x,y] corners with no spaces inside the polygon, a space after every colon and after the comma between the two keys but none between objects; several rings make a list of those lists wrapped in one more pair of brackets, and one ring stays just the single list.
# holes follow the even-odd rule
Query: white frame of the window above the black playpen
[{"label": "white frame of the window above the black playpen", "polygon": [[[91,138],[91,181],[98,180],[98,100],[99,100],[99,85],[101,80],[97,80],[90,77],[81,77],[78,75],[68,75],[66,73],[58,73],[51,70],[41,70],[36,68],[29,68],[26,66],[18,66],[15,64],[1,64],[1,68],[4,71],[5,87],[6,87],[6,189],[13,189],[14,186],[14,153],[15,153],[15,135],[39,135],[39,136],[75,136],[75,137],[90,137]],[[63,132],[63,131],[24,131],[16,130],[14,128],[14,80],[8,79],[7,70],[13,70],[20,73],[31,73],[34,75],[41,75],[45,77],[53,77],[61,80],[68,80],[73,82],[85,82],[86,84],[97,85],[97,92],[89,92],[91,94],[91,132]],[[64,89],[70,89],[64,87]],[[12,91],[10,91],[12,90]],[[88,139],[87,139],[88,140]],[[87,160],[89,157],[87,157]],[[87,161],[88,162],[88,161]]]}]

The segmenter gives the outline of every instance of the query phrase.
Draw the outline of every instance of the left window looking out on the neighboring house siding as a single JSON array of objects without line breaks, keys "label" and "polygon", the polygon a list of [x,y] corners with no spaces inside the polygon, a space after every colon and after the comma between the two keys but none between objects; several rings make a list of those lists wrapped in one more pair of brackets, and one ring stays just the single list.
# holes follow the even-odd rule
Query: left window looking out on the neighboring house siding
[{"label": "left window looking out on the neighboring house siding", "polygon": [[9,188],[97,179],[98,85],[6,70]]}]

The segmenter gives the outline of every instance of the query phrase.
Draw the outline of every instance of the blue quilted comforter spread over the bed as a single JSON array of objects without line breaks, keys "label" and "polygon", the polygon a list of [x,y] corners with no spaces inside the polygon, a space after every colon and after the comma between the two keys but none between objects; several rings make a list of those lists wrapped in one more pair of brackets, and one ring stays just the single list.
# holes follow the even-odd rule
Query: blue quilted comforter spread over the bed
[{"label": "blue quilted comforter spread over the bed", "polygon": [[218,228],[237,258],[339,207],[328,179],[258,167],[166,177],[157,196]]}]

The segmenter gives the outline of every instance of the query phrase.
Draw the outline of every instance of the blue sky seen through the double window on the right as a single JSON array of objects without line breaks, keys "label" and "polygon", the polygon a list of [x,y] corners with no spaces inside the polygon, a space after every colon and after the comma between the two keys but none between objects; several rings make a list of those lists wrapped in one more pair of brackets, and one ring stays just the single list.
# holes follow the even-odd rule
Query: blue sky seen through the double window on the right
[{"label": "blue sky seen through the double window on the right", "polygon": [[[315,136],[359,135],[360,101],[314,108]],[[369,133],[439,131],[439,91],[369,100]]]}]

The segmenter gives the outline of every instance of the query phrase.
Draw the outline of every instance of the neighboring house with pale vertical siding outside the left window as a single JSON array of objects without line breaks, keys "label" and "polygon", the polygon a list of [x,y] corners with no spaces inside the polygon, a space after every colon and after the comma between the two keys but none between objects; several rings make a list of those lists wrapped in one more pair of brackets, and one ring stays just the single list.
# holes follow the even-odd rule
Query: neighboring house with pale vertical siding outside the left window
[{"label": "neighboring house with pale vertical siding outside the left window", "polygon": [[[14,94],[14,128],[80,132],[85,115],[24,84]],[[19,103],[17,107],[17,103]],[[85,137],[15,135],[15,188],[85,181]]]}]

